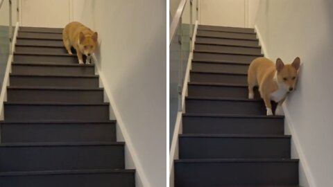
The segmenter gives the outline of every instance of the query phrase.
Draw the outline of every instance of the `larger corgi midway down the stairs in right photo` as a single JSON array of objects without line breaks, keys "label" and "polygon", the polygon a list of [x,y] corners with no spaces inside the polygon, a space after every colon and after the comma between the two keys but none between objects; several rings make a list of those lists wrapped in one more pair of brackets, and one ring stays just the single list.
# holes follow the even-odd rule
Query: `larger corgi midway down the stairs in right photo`
[{"label": "larger corgi midway down the stairs in right photo", "polygon": [[259,86],[259,94],[266,106],[267,116],[273,115],[271,100],[278,103],[275,115],[283,116],[282,103],[290,91],[295,89],[300,69],[300,58],[284,64],[280,58],[276,63],[266,57],[257,57],[248,68],[248,98],[253,99],[253,87]]}]

